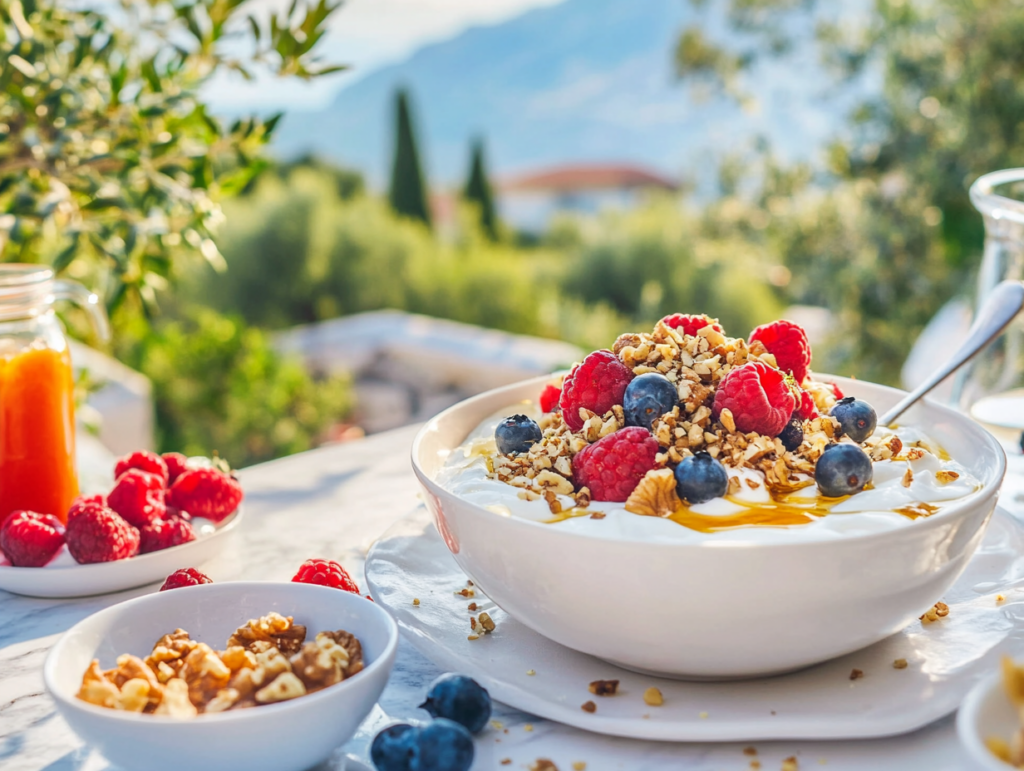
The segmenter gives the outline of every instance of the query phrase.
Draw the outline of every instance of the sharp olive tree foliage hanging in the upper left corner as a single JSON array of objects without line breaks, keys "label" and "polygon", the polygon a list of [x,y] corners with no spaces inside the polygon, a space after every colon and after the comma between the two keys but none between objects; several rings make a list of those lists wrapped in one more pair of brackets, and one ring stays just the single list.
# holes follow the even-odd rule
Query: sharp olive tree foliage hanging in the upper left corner
[{"label": "sharp olive tree foliage hanging in the upper left corner", "polygon": [[200,88],[222,71],[339,69],[314,53],[339,3],[293,2],[262,24],[251,4],[0,4],[0,259],[85,279],[112,311],[150,310],[186,255],[222,264],[219,201],[262,168],[278,116],[224,125]]}]

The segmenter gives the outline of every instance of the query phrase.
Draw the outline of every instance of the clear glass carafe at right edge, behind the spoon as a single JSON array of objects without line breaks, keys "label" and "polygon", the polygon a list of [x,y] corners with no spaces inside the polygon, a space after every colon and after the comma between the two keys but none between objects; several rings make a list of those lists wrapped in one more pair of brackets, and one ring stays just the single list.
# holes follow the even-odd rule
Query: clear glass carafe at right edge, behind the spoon
[{"label": "clear glass carafe at right edge, behind the spoon", "polygon": [[[985,220],[985,254],[978,276],[980,305],[995,285],[1024,281],[1024,169],[995,171],[971,185]],[[1024,431],[1024,317],[1017,318],[957,381],[959,405],[987,429],[1017,442]]]}]

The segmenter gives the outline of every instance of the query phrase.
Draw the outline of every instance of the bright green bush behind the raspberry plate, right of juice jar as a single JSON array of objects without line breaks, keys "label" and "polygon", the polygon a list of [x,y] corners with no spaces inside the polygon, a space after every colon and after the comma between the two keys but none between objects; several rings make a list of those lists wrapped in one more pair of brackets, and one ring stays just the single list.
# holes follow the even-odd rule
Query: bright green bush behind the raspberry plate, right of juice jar
[{"label": "bright green bush behind the raspberry plate, right of juice jar", "polygon": [[237,318],[200,309],[138,332],[120,354],[153,381],[162,452],[246,466],[315,446],[349,410],[346,380],[312,380]]}]

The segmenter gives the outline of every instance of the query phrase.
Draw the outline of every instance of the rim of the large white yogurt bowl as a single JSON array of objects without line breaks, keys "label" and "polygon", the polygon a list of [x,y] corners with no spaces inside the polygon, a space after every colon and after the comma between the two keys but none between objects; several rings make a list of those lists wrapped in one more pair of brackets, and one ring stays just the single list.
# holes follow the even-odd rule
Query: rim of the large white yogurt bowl
[{"label": "rim of the large white yogurt bowl", "polygon": [[[809,539],[802,539],[800,541],[795,540],[792,542],[781,541],[781,542],[771,542],[771,543],[729,542],[729,541],[715,541],[713,539],[707,539],[695,542],[683,542],[683,541],[657,542],[639,536],[629,537],[629,538],[617,538],[614,541],[611,541],[606,537],[595,534],[592,532],[567,531],[564,529],[551,527],[550,524],[546,522],[526,519],[524,517],[503,516],[496,514],[493,511],[484,509],[482,506],[478,504],[459,498],[456,494],[445,489],[440,484],[438,484],[429,474],[427,474],[426,471],[424,471],[424,469],[420,466],[419,458],[421,455],[423,443],[426,441],[427,436],[435,429],[435,427],[440,421],[446,419],[456,412],[466,410],[467,408],[471,408],[474,404],[480,403],[481,401],[493,397],[495,394],[501,391],[504,390],[511,391],[514,389],[524,388],[527,385],[543,386],[545,383],[550,382],[552,377],[553,377],[552,375],[541,375],[535,378],[527,378],[526,380],[520,380],[516,383],[510,383],[509,385],[502,386],[500,388],[493,388],[488,391],[484,391],[483,393],[471,396],[467,399],[463,399],[462,401],[456,404],[453,404],[452,406],[438,413],[429,421],[427,421],[425,424],[423,424],[423,426],[420,427],[420,430],[416,433],[416,437],[413,439],[413,446],[411,449],[413,471],[415,472],[417,478],[420,480],[420,483],[424,487],[426,487],[431,495],[435,497],[445,496],[450,498],[455,498],[461,504],[464,504],[465,506],[469,507],[469,509],[476,516],[493,518],[495,521],[502,521],[513,527],[536,528],[538,532],[543,531],[548,533],[548,537],[564,538],[575,542],[579,542],[580,540],[586,540],[586,541],[602,542],[606,544],[629,544],[629,545],[642,544],[650,549],[670,549],[670,550],[680,549],[680,548],[686,548],[686,549],[728,548],[728,549],[758,549],[758,550],[787,550],[795,548],[820,549],[821,544],[824,543],[839,546],[841,544],[863,545],[865,543],[884,541],[893,538],[897,533],[907,532],[909,529],[905,527],[899,527],[890,530],[880,530],[877,532],[846,534],[840,539],[809,538]],[[853,388],[856,388],[857,385],[868,385],[871,386],[872,388],[880,388],[885,391],[889,391],[894,396],[897,397],[906,395],[906,391],[902,391],[898,388],[893,388],[892,386],[882,385],[881,383],[872,383],[866,380],[855,380],[852,378],[844,378],[838,375],[815,373],[815,380],[817,380],[818,382],[839,381],[842,384],[849,384]],[[997,473],[995,476],[996,481],[992,483],[990,486],[987,486],[983,483],[979,489],[975,490],[974,492],[971,492],[970,495],[965,496],[964,498],[957,501],[954,501],[953,503],[949,504],[941,511],[939,511],[937,514],[934,514],[933,516],[930,516],[926,519],[915,520],[913,522],[913,531],[916,532],[930,530],[935,527],[942,526],[942,524],[946,520],[962,515],[966,509],[973,508],[977,506],[980,502],[983,502],[988,498],[994,498],[997,500],[999,488],[1002,484],[1002,479],[1006,476],[1006,471],[1007,471],[1006,451],[1004,451],[1002,445],[999,444],[998,440],[994,436],[992,436],[990,432],[982,428],[982,426],[979,425],[977,421],[972,420],[970,417],[964,415],[963,413],[957,412],[956,410],[953,410],[950,406],[933,401],[927,396],[924,399],[922,399],[922,401],[929,409],[937,410],[940,414],[943,414],[952,421],[961,424],[966,423],[968,426],[973,427],[976,430],[980,431],[982,441],[987,443],[988,446],[995,452],[995,456],[997,459],[997,468],[996,468]],[[953,460],[955,460],[955,458]]]}]

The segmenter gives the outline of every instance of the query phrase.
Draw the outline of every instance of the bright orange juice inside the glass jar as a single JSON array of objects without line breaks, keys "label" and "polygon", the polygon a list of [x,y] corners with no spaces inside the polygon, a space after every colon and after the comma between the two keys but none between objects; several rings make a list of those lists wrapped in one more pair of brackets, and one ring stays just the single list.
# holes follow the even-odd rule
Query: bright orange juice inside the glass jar
[{"label": "bright orange juice inside the glass jar", "polygon": [[0,357],[0,521],[19,509],[65,521],[77,495],[68,348]]}]

